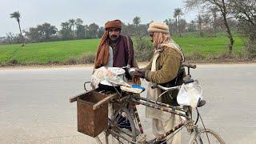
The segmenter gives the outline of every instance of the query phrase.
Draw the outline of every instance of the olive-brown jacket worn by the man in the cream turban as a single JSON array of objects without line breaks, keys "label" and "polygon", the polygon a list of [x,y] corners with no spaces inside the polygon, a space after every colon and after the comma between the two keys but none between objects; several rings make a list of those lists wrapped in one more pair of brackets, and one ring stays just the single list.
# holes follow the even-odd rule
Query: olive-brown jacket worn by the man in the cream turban
[{"label": "olive-brown jacket worn by the man in the cream turban", "polygon": [[[149,65],[144,68],[144,70],[146,70],[145,72],[146,80],[149,82],[157,83],[157,84],[164,84],[166,82],[172,81],[178,75],[178,70],[180,70],[182,59],[183,59],[182,55],[178,52],[178,50],[175,50],[170,46],[168,47],[163,46],[159,51],[159,56],[158,56],[158,59],[156,60],[155,71],[151,71],[153,59],[151,60]],[[163,90],[160,90],[160,93],[162,92]],[[162,95],[160,102],[170,104],[171,106],[178,106],[178,103],[176,101],[177,94],[178,94],[178,90],[172,90],[170,92],[167,92],[164,95]],[[147,114],[158,114],[158,113],[157,112],[154,113],[153,111],[153,112],[148,112]]]}]

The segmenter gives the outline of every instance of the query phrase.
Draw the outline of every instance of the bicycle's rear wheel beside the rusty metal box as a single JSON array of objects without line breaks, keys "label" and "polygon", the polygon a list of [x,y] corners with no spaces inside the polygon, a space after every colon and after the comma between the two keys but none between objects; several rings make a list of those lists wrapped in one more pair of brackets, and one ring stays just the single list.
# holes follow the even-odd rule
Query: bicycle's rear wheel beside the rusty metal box
[{"label": "bicycle's rear wheel beside the rusty metal box", "polygon": [[[136,138],[138,136],[138,130],[134,124],[134,117],[126,107],[122,107],[119,110],[119,115],[117,118],[114,118],[114,122],[110,125],[110,128],[107,130],[112,139],[109,139],[110,143],[119,142],[119,143],[136,143]],[[121,117],[122,113],[126,114],[127,121],[130,122],[130,130],[126,128],[121,128],[118,119]]]}]

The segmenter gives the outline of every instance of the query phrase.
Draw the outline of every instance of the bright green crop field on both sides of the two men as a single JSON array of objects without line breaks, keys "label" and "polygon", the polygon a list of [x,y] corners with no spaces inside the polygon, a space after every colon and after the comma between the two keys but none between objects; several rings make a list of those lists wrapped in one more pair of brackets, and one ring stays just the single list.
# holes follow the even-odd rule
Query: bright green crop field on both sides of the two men
[{"label": "bright green crop field on both sides of the two men", "polygon": [[[205,57],[226,52],[229,39],[225,34],[217,34],[214,38],[197,38],[194,34],[184,34],[182,38],[174,38],[186,55],[202,54]],[[243,40],[234,36],[234,54],[243,54]],[[18,63],[46,64],[48,62],[66,62],[70,58],[80,58],[86,54],[95,54],[99,39],[82,39],[59,42],[28,43],[21,47],[0,45],[0,64],[6,65],[15,60]]]}]

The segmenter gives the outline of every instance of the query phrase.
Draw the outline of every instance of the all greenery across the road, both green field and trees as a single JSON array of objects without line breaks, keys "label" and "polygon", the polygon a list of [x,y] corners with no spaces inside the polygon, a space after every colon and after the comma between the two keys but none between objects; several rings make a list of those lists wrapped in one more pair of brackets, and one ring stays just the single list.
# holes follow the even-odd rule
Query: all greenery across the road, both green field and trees
[{"label": "all greenery across the road, both green field and trees", "polygon": [[[186,59],[193,62],[252,62],[256,58],[256,2],[252,0],[222,2],[186,0],[186,10],[200,10],[197,18],[187,22],[181,8],[170,12],[163,22],[172,38],[182,47]],[[10,14],[18,22],[18,34],[0,37],[0,66],[78,64],[94,62],[104,27],[84,24],[81,18],[61,22],[61,28],[48,22],[22,30],[18,11]],[[149,23],[135,17],[122,23],[122,34],[134,41],[139,62],[152,58],[148,38]]]}]

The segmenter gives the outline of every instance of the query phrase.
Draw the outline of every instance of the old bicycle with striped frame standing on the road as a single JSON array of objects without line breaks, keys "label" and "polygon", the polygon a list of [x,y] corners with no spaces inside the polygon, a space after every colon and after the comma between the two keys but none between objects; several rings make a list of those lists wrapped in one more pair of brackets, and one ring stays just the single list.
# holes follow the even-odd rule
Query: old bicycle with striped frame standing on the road
[{"label": "old bicycle with striped frame standing on the road", "polygon": [[[184,84],[195,82],[191,79],[190,68],[195,68],[196,66],[190,64],[183,64],[188,68],[187,79]],[[179,90],[181,86],[174,87],[164,87],[160,85],[152,86],[151,88],[159,88],[165,90],[166,92],[171,90]],[[161,96],[159,96],[161,97]],[[202,143],[220,143],[225,144],[224,140],[213,130],[206,129],[202,117],[199,114],[198,107],[205,105],[205,101],[201,99],[198,100],[196,107],[197,118],[194,121],[192,118],[192,109],[190,106],[170,106],[166,103],[149,100],[147,98],[139,97],[138,94],[133,94],[125,91],[118,91],[111,98],[107,98],[105,102],[110,102],[110,106],[114,105],[114,113],[110,114],[109,124],[105,130],[106,134],[106,143],[109,143],[108,136],[112,135],[116,141],[119,143],[164,143],[162,139],[166,139],[170,134],[176,134],[179,130],[186,127],[187,131],[190,134],[190,144],[202,144]],[[101,102],[101,104],[104,102]],[[177,126],[174,126],[173,129],[167,131],[165,134],[162,134],[159,138],[154,138],[150,141],[146,140],[146,135],[142,129],[142,123],[140,121],[138,110],[136,105],[148,106],[154,109],[166,111],[171,114],[177,114],[183,118],[183,121]],[[100,104],[98,104],[100,106]],[[126,121],[130,122],[130,130],[122,129],[122,123],[119,122],[122,118],[122,114],[125,114]],[[198,127],[198,120],[202,122],[202,128]],[[98,138],[97,138],[98,139]],[[99,143],[102,143],[99,141]]]}]

